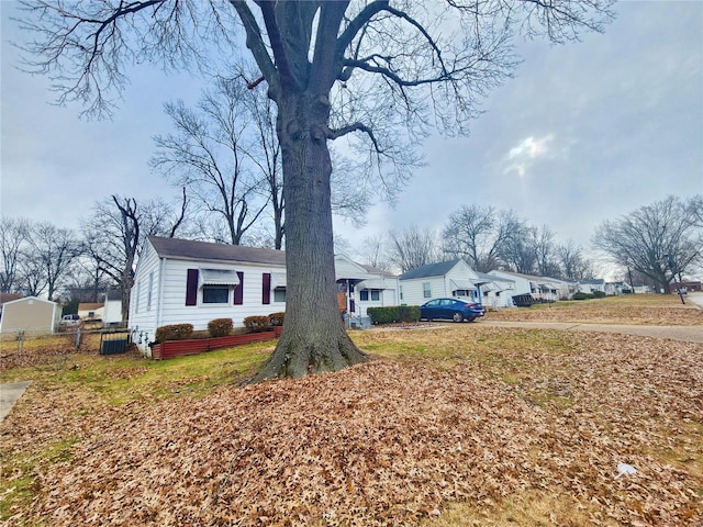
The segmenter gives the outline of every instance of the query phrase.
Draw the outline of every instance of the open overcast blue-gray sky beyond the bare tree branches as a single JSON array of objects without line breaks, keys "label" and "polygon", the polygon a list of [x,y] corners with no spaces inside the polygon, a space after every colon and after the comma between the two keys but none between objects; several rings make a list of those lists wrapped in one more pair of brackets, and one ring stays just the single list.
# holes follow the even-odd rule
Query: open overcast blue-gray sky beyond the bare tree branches
[{"label": "open overcast blue-gray sky beyond the bare tree branches", "polygon": [[[76,228],[112,193],[177,195],[147,161],[169,132],[163,103],[197,101],[201,81],[143,67],[113,121],[51,105],[49,81],[15,69],[22,41],[2,19],[2,215]],[[604,34],[553,47],[521,44],[515,78],[484,101],[469,137],[433,137],[395,208],[379,204],[366,236],[410,225],[440,228],[462,204],[512,209],[558,242],[588,248],[596,225],[667,194],[703,193],[703,2],[621,2]]]}]

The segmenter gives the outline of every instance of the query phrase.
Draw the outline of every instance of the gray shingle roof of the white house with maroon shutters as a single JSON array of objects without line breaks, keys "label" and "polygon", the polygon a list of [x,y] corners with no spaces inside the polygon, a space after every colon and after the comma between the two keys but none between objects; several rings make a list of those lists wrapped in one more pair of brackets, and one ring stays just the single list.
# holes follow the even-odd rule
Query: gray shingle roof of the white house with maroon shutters
[{"label": "gray shingle roof of the white house with maroon shutters", "polygon": [[160,236],[149,236],[148,239],[158,256],[163,258],[286,265],[286,253],[283,250],[194,242],[192,239],[163,238]]}]

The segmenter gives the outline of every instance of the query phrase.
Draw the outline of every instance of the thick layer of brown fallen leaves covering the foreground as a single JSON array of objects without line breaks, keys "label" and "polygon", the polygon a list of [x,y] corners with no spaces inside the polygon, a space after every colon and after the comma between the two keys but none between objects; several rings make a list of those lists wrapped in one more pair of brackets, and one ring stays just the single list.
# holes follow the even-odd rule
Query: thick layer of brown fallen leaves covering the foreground
[{"label": "thick layer of brown fallen leaves covering the foreground", "polygon": [[[593,525],[700,525],[703,475],[666,453],[703,459],[703,346],[573,338],[573,354],[525,354],[515,384],[470,361],[376,360],[74,419],[70,459],[45,467],[19,517],[416,525],[447,500],[490,507],[536,490],[571,496]],[[32,436],[19,421],[18,446]],[[621,462],[637,473],[616,480]]]}]

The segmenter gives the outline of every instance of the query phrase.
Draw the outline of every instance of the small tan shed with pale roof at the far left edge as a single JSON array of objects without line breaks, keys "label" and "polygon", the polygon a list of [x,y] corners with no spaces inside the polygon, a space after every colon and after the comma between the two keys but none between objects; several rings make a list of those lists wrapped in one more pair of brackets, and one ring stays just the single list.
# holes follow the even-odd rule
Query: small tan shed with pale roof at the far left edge
[{"label": "small tan shed with pale roof at the far left edge", "polygon": [[25,296],[2,305],[0,333],[54,333],[62,319],[62,307],[56,302]]}]

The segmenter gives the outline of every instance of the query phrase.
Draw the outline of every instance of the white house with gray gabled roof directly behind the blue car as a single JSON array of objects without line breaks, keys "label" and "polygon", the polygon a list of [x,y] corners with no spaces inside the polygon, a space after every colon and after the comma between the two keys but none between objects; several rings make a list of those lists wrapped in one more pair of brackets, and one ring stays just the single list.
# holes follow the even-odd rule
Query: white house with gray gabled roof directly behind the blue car
[{"label": "white house with gray gabled roof directly behind the blue car", "polygon": [[432,299],[449,296],[481,302],[479,287],[489,283],[460,258],[411,269],[398,280],[403,305],[422,305]]}]

